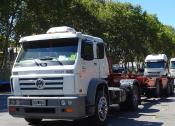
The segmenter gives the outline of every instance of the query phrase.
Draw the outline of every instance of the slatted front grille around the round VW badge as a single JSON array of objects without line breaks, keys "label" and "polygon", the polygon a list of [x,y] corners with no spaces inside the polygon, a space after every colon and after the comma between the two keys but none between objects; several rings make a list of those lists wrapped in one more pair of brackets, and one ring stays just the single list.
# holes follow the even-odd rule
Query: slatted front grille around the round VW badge
[{"label": "slatted front grille around the round VW badge", "polygon": [[[39,89],[36,81],[42,79],[44,86]],[[20,78],[19,79],[21,90],[63,90],[63,77],[54,78]]]}]

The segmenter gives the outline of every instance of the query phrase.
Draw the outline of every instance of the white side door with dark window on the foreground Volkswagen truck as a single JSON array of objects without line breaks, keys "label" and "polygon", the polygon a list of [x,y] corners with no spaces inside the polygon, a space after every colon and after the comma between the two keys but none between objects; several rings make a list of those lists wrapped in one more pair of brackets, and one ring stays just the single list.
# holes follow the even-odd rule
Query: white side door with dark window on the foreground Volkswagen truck
[{"label": "white side door with dark window on the foreground Volkswagen truck", "polygon": [[[99,78],[99,66],[97,59],[94,57],[95,44],[90,40],[83,40],[81,46],[81,77],[79,89],[82,93],[87,92],[89,82],[93,78]],[[81,87],[81,88],[80,88]]]}]

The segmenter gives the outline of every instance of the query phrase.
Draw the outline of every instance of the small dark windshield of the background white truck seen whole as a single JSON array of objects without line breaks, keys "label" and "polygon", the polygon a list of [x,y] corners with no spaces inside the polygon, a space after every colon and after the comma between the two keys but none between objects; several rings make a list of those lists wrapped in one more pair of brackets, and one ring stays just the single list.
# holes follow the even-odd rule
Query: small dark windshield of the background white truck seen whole
[{"label": "small dark windshield of the background white truck seen whole", "polygon": [[165,67],[165,62],[160,61],[160,62],[146,62],[145,63],[146,68],[164,68]]}]

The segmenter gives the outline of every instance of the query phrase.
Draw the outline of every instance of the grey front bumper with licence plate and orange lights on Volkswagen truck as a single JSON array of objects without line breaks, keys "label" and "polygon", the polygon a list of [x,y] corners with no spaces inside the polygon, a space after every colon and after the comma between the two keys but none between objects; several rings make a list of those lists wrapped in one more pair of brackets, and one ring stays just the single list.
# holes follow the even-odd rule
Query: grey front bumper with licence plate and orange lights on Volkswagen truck
[{"label": "grey front bumper with licence plate and orange lights on Volkswagen truck", "polygon": [[74,120],[86,116],[85,97],[11,96],[8,98],[8,109],[12,116],[22,118]]}]

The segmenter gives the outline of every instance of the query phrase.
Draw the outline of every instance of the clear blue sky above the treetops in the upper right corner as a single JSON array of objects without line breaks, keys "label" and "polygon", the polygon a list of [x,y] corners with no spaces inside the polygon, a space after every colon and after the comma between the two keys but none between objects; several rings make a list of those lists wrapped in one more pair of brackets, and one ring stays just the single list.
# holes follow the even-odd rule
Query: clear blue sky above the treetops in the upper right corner
[{"label": "clear blue sky above the treetops in the upper right corner", "polygon": [[160,22],[175,28],[175,0],[113,0],[141,5],[143,10],[156,14]]}]

